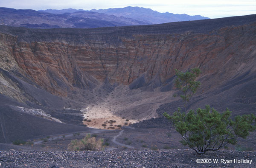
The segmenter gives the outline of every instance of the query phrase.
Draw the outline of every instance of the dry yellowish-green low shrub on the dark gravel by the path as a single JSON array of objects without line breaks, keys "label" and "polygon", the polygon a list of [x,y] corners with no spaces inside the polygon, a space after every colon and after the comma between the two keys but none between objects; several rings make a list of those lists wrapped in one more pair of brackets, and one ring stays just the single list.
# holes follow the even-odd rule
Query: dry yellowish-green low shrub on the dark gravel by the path
[{"label": "dry yellowish-green low shrub on the dark gravel by the path", "polygon": [[90,137],[90,134],[87,134],[81,140],[72,140],[68,145],[70,151],[100,151],[103,150],[103,139],[96,140],[95,137]]}]

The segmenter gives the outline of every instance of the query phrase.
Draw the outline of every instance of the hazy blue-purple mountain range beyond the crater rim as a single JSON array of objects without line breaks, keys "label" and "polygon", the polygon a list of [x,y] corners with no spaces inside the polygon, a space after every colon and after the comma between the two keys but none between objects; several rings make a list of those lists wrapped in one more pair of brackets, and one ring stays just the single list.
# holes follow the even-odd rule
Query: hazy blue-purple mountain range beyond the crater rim
[{"label": "hazy blue-purple mountain range beyond the crater rim", "polygon": [[90,11],[71,8],[44,11],[0,8],[0,15],[0,25],[26,28],[98,28],[209,19],[200,15],[160,13],[131,6]]}]

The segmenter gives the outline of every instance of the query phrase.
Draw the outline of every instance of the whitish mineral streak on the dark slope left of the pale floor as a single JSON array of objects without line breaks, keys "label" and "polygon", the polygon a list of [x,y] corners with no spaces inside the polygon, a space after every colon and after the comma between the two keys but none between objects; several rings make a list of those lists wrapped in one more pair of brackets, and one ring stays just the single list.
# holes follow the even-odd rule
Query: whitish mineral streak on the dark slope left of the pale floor
[{"label": "whitish mineral streak on the dark slope left of the pale floor", "polygon": [[21,109],[23,112],[29,113],[31,115],[36,115],[38,117],[45,118],[47,120],[52,120],[52,121],[55,121],[55,122],[58,122],[58,123],[63,123],[63,122],[61,122],[61,120],[58,120],[57,118],[51,117],[51,115],[44,112],[44,110],[41,110],[41,109],[27,109],[25,107],[19,107],[19,106],[17,106],[17,107],[19,109]]}]

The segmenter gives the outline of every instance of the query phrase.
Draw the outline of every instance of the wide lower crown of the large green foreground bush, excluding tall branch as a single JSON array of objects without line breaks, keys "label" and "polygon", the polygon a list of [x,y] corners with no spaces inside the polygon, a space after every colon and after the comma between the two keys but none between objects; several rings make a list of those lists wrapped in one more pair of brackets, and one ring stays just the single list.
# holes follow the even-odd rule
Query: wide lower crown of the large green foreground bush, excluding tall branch
[{"label": "wide lower crown of the large green foreground bush, excluding tall branch", "polygon": [[182,135],[183,140],[180,142],[198,154],[219,150],[228,143],[236,144],[238,137],[245,139],[249,132],[256,129],[253,125],[255,115],[236,116],[232,120],[229,109],[220,114],[210,106],[198,108],[196,112],[190,110],[188,114],[180,112],[179,108],[172,116],[167,113],[164,116],[172,121],[176,131]]}]

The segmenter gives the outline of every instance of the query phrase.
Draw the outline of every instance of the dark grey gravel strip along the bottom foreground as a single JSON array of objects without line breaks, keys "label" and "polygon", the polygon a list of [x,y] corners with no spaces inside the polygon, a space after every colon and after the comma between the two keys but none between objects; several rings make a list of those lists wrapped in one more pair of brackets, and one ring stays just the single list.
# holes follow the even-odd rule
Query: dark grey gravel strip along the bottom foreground
[{"label": "dark grey gravel strip along the bottom foreground", "polygon": [[[212,163],[197,163],[207,159]],[[206,159],[206,160],[204,160]],[[218,159],[218,163],[213,163]],[[233,163],[221,162],[221,159]],[[252,160],[234,163],[234,160]],[[0,151],[0,168],[255,168],[256,152],[215,151],[205,155],[192,150],[143,151]]]}]

